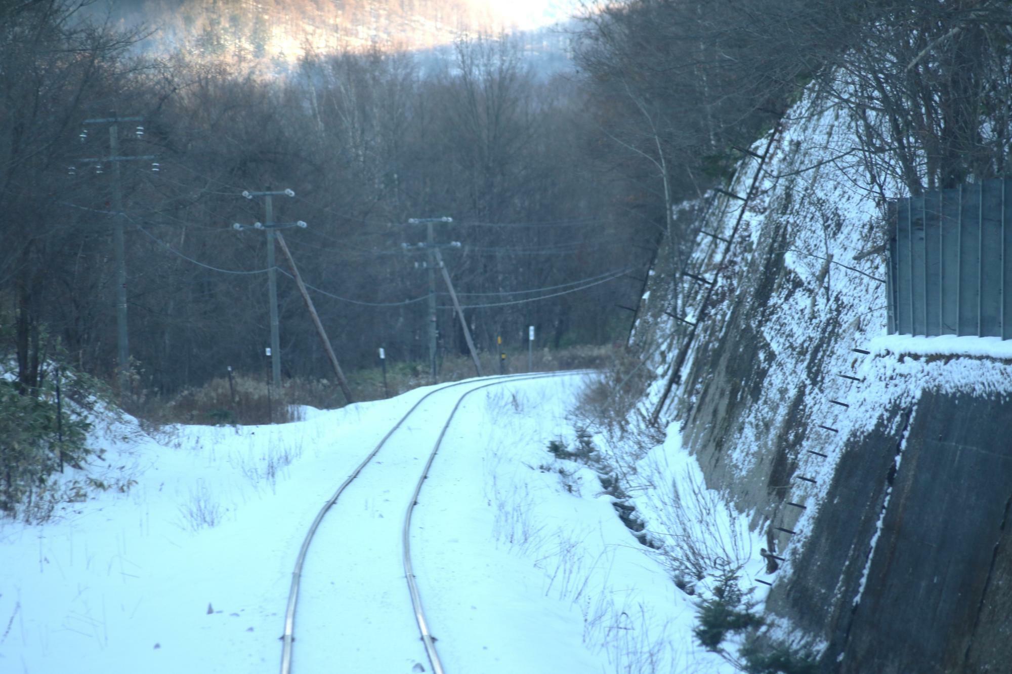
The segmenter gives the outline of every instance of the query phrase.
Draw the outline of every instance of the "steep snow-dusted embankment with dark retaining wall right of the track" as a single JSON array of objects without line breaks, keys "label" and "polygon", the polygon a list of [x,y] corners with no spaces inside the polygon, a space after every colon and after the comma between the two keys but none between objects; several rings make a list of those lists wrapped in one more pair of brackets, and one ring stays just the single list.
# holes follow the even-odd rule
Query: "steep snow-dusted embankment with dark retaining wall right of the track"
[{"label": "steep snow-dusted embankment with dark retaining wall right of the track", "polygon": [[782,558],[774,634],[817,649],[822,671],[1007,671],[1012,361],[874,340],[886,263],[860,254],[899,186],[869,183],[833,107],[805,100],[773,134],[729,190],[755,179],[744,213],[722,196],[693,216],[698,278],[673,284],[658,257],[632,337],[658,374],[641,410],[690,340],[661,425]]}]

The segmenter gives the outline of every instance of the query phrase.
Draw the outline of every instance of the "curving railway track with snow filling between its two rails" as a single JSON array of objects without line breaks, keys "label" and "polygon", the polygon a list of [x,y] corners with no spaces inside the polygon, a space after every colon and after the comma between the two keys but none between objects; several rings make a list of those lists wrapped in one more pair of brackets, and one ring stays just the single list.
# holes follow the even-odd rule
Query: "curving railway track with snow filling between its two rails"
[{"label": "curving railway track with snow filling between its two rails", "polygon": [[[320,509],[303,539],[291,574],[291,587],[284,615],[284,631],[281,637],[281,674],[289,674],[291,672],[292,651],[296,641],[296,610],[300,591],[303,589],[303,580],[310,576],[316,579],[318,584],[314,595],[311,595],[311,600],[317,600],[321,604],[326,604],[328,607],[327,612],[334,616],[335,621],[344,623],[345,629],[333,629],[333,631],[344,633],[343,638],[348,642],[341,647],[340,650],[342,652],[348,653],[354,648],[361,649],[364,647],[364,644],[369,642],[388,641],[391,642],[389,649],[391,654],[403,653],[403,648],[399,649],[393,642],[400,639],[400,643],[404,645],[404,648],[408,650],[417,649],[418,637],[407,638],[404,633],[408,630],[415,635],[420,633],[425,658],[429,661],[432,671],[442,674],[443,668],[436,653],[435,640],[429,631],[428,621],[425,618],[421,596],[412,570],[410,538],[411,515],[418,502],[422,485],[428,476],[436,453],[439,451],[443,437],[453,421],[453,416],[456,414],[460,404],[472,393],[511,382],[572,375],[581,373],[582,371],[585,370],[512,374],[450,384],[422,396],[391,427],[375,447],[355,468],[351,475],[341,483],[333,496]],[[426,417],[425,412],[430,408],[437,407],[433,403],[443,398],[440,396],[443,392],[446,392],[448,389],[463,387],[467,387],[467,389],[461,391],[457,396],[452,409],[441,428],[438,428],[438,435],[436,435],[435,424]],[[443,408],[445,407],[447,405],[443,403]],[[420,415],[424,419],[422,425],[412,426],[409,420],[414,421]],[[425,421],[429,421],[428,427],[426,427]],[[393,446],[397,443],[391,442],[391,439],[395,436],[397,436],[400,442],[398,446]],[[434,441],[426,456],[423,448],[429,445],[424,440],[429,440],[433,436]],[[386,464],[381,460],[374,460],[380,454],[381,449],[385,447],[389,447],[388,451],[384,454]],[[425,462],[419,470],[418,465],[422,458],[425,458]],[[366,467],[371,467],[370,471],[363,473]],[[400,565],[398,565],[399,568],[395,570],[391,566],[393,563],[392,560],[383,559],[389,557],[389,555],[377,555],[375,558],[370,558],[369,553],[373,550],[376,553],[382,553],[383,546],[382,544],[376,544],[376,540],[384,538],[384,534],[389,538],[390,535],[395,533],[393,527],[396,520],[394,518],[386,518],[383,514],[390,507],[388,504],[390,504],[391,499],[387,497],[394,496],[391,494],[393,490],[384,489],[384,487],[412,484],[412,482],[414,483],[414,490],[408,499],[408,505],[404,511],[400,526],[402,559],[400,560]],[[343,499],[341,499],[342,496],[344,497]],[[332,520],[327,520],[327,524],[325,524],[324,518],[338,503],[338,499],[341,499],[341,507],[346,508],[344,522],[340,525],[337,523],[333,524],[335,530],[330,532],[331,535],[324,536],[323,538],[317,537],[317,533],[321,528],[331,525]],[[349,501],[350,503],[346,503]],[[355,506],[361,508],[361,511],[354,510]],[[323,558],[331,563],[327,566],[329,573],[325,574],[319,571],[314,574],[306,573],[308,554],[310,545],[314,540],[317,540],[317,545],[314,547],[315,557],[317,559]],[[327,547],[327,550],[324,550],[321,555],[318,550],[320,547]],[[388,582],[393,580],[395,574],[406,578],[416,628],[410,628],[410,625],[406,623],[408,612],[403,606],[403,595],[398,599],[390,595],[399,593],[389,592],[386,587],[369,587],[367,580],[365,578],[355,578],[355,573],[372,576],[373,578],[383,578]],[[337,578],[337,580],[329,580],[329,585],[324,583],[321,589],[320,583],[324,577]],[[338,584],[340,587],[338,587]],[[347,603],[344,601],[347,595],[352,593],[357,594],[357,606],[354,605],[356,603],[354,599]],[[362,610],[363,608],[367,610]],[[329,625],[310,625],[304,627],[304,629],[316,629],[317,634],[315,638],[317,641],[326,640],[325,633],[331,633]],[[371,635],[371,639],[369,639],[368,633],[370,630],[373,633],[382,630],[384,634],[380,635],[380,639],[376,639],[375,634]],[[314,636],[311,636],[308,641],[314,641]],[[304,647],[305,649],[306,647]],[[421,654],[419,653],[418,655],[420,656]],[[389,662],[386,665],[378,662],[372,664],[377,668],[370,669],[370,671],[396,671],[396,669],[390,669],[391,666],[394,666],[393,662]],[[423,670],[416,669],[414,671]]]}]

